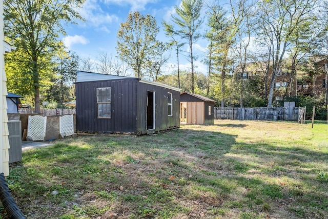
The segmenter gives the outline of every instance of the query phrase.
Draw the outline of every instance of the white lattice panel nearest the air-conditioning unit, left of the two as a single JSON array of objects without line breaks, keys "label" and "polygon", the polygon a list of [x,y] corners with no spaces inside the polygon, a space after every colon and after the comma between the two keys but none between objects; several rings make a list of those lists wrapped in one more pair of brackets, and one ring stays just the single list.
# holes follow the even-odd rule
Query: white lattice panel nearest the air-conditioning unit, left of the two
[{"label": "white lattice panel nearest the air-conditioning unit, left of the two", "polygon": [[47,116],[29,115],[27,136],[33,141],[44,141],[46,137]]}]

